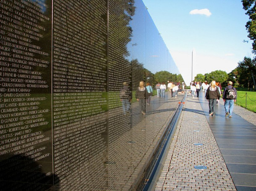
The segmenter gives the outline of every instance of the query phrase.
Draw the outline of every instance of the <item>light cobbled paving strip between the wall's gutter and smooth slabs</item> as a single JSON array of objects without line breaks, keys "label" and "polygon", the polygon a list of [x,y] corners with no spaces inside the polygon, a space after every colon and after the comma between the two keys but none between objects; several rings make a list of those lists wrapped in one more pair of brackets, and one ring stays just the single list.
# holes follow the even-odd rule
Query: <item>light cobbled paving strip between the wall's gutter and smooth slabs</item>
[{"label": "light cobbled paving strip between the wall's gutter and smooth slabs", "polygon": [[[198,146],[194,143],[202,143]],[[206,166],[204,170],[194,166]],[[187,97],[155,191],[236,190],[199,100]]]}]

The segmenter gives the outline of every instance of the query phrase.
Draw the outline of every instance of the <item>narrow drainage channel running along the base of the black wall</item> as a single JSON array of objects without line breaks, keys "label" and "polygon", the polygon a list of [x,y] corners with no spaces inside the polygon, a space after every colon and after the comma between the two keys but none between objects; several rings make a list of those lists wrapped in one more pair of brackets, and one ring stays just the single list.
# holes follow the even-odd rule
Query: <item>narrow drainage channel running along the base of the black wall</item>
[{"label": "narrow drainage channel running along the base of the black wall", "polygon": [[155,161],[154,166],[152,167],[152,171],[150,172],[149,177],[142,191],[153,191],[157,185],[157,181],[161,175],[165,160],[167,158],[167,154],[168,154],[170,145],[172,143],[172,138],[175,133],[176,127],[178,125],[180,114],[183,109],[183,104],[185,103],[187,94],[188,94],[188,91],[185,93],[182,101],[179,102],[179,106],[176,109],[175,114],[172,117],[172,120],[170,120],[167,126],[165,136],[162,140],[162,147],[159,148],[160,149],[159,155],[157,156],[157,160]]}]

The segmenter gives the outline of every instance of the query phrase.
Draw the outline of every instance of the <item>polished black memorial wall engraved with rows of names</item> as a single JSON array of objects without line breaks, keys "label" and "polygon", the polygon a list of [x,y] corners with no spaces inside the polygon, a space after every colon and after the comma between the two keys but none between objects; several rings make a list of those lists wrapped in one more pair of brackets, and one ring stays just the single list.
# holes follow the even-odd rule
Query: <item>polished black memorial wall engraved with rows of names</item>
[{"label": "polished black memorial wall engraved with rows of names", "polygon": [[141,0],[0,0],[1,190],[140,189],[181,99],[160,71],[178,82]]}]

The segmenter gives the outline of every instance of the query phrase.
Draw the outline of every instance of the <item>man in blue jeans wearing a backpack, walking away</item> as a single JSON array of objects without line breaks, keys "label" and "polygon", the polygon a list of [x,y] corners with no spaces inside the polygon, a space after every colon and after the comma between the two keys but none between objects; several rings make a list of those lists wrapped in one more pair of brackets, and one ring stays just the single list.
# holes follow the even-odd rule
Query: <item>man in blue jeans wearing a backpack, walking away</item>
[{"label": "man in blue jeans wearing a backpack, walking away", "polygon": [[225,117],[232,117],[232,111],[234,107],[234,102],[237,96],[236,89],[232,86],[232,81],[228,82],[228,86],[225,87],[222,99],[224,101],[224,107],[225,107]]}]

